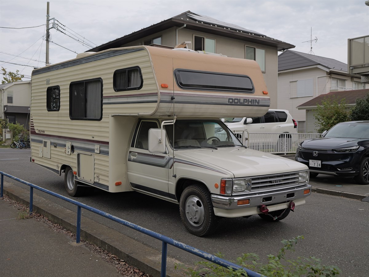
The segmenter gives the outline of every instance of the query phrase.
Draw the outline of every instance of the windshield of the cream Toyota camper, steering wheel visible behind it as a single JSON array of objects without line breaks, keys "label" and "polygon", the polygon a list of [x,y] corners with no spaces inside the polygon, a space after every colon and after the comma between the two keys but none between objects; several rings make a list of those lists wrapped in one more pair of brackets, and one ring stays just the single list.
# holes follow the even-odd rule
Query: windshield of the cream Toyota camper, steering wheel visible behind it
[{"label": "windshield of the cream Toyota camper, steering wheel visible behind it", "polygon": [[174,141],[173,125],[166,125],[165,130],[170,145],[176,149],[242,146],[232,131],[220,120],[177,119],[174,124]]}]

